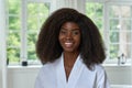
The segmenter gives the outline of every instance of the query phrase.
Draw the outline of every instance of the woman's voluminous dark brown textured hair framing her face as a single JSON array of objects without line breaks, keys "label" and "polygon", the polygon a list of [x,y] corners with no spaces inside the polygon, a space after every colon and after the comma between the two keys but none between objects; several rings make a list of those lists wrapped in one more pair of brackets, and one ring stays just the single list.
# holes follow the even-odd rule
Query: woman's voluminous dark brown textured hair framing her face
[{"label": "woman's voluminous dark brown textured hair framing her face", "polygon": [[81,31],[80,56],[87,67],[101,64],[106,54],[98,28],[88,16],[70,8],[56,10],[43,23],[36,42],[36,54],[41,62],[54,62],[62,55],[58,35],[65,22],[75,22]]}]

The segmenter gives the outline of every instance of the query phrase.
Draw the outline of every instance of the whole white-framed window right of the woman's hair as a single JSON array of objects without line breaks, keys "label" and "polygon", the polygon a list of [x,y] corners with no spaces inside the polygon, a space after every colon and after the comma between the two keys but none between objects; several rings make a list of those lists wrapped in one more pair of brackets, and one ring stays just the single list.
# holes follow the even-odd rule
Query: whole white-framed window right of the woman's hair
[{"label": "whole white-framed window right of the woman's hair", "polygon": [[132,3],[125,0],[87,1],[86,14],[97,24],[105,40],[108,56],[106,63],[117,63],[122,55],[129,63],[132,58]]}]

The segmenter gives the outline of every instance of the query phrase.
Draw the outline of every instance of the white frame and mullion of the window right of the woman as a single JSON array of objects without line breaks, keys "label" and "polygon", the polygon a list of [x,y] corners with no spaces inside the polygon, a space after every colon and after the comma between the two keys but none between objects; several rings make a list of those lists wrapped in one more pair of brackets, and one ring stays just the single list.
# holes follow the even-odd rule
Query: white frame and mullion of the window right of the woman
[{"label": "white frame and mullion of the window right of the woman", "polygon": [[[109,44],[110,44],[110,38],[109,38],[109,7],[111,4],[131,4],[132,6],[132,1],[131,0],[86,0],[87,2],[99,2],[99,3],[102,3],[103,4],[103,40],[105,40],[105,44],[106,44],[106,47],[107,47],[107,59],[105,62],[105,64],[118,64],[118,57],[117,59],[109,59]],[[132,41],[131,41],[132,42]],[[132,45],[132,44],[131,44]],[[132,47],[131,47],[132,50]],[[132,51],[131,51],[132,53]],[[127,64],[124,65],[131,65],[132,64],[132,56],[131,58],[127,58]]]}]

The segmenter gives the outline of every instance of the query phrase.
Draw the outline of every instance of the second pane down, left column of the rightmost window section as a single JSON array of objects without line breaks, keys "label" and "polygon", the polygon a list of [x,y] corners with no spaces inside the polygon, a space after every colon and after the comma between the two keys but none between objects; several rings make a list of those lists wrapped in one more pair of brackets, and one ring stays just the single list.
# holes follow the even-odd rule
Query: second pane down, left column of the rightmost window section
[{"label": "second pane down, left column of the rightmost window section", "polygon": [[121,25],[119,24],[119,19],[110,20],[110,30],[119,30]]}]

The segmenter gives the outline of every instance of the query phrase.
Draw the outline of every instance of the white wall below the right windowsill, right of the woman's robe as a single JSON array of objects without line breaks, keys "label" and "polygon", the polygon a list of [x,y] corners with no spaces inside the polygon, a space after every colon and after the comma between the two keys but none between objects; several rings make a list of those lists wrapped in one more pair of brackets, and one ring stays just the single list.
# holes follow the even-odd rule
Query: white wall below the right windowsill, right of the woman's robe
[{"label": "white wall below the right windowsill, right of the woman's robe", "polygon": [[106,66],[111,85],[132,85],[131,66]]}]

